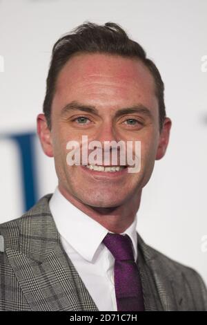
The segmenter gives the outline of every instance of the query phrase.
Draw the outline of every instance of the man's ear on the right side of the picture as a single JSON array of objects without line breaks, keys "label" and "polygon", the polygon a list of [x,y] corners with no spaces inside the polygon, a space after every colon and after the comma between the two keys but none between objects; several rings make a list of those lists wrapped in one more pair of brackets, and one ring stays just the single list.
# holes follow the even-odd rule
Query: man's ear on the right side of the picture
[{"label": "man's ear on the right side of the picture", "polygon": [[159,135],[159,145],[157,147],[157,155],[156,160],[159,160],[164,157],[166,153],[166,149],[168,147],[168,142],[170,138],[170,128],[171,128],[172,122],[170,118],[165,118],[163,127],[161,129],[160,135]]}]

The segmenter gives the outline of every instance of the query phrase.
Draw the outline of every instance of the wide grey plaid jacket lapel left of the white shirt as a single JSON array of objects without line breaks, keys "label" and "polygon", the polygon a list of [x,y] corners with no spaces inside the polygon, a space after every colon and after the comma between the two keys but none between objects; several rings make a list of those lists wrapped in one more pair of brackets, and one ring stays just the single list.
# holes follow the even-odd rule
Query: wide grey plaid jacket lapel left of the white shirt
[{"label": "wide grey plaid jacket lapel left of the white shirt", "polygon": [[19,250],[6,249],[10,265],[32,310],[98,310],[62,248],[49,198],[21,218]]}]

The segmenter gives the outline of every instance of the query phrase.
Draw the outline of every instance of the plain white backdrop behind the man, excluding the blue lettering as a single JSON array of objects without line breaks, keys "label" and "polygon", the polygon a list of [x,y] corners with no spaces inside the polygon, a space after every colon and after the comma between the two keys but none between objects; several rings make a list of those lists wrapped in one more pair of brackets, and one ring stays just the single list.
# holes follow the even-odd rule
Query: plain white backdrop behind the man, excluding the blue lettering
[{"label": "plain white backdrop behind the man, excluding the blue lettering", "polygon": [[[2,135],[35,131],[52,45],[86,20],[123,26],[161,72],[171,139],[144,189],[137,230],[207,283],[206,0],[0,0],[0,223],[23,210],[17,147]],[[37,165],[43,196],[54,191],[57,178],[38,141]]]}]

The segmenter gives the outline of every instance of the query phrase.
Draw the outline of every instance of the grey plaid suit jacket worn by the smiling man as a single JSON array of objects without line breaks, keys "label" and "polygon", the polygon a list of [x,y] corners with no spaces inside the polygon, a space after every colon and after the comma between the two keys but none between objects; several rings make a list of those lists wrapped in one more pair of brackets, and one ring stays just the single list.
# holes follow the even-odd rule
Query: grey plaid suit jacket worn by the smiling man
[{"label": "grey plaid suit jacket worn by the smiling man", "polygon": [[[63,250],[50,197],[0,225],[0,310],[98,310]],[[145,309],[207,310],[206,287],[197,272],[137,238]]]}]

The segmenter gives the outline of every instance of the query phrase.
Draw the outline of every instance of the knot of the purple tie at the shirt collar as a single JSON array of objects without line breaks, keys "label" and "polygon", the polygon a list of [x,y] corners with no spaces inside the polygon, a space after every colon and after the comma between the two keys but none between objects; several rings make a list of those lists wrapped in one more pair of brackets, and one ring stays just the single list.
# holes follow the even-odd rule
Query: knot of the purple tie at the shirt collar
[{"label": "knot of the purple tie at the shirt collar", "polygon": [[103,239],[103,243],[106,245],[108,250],[110,250],[115,259],[119,261],[125,259],[134,260],[132,242],[127,234],[122,235],[108,233]]}]

